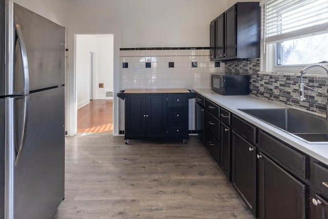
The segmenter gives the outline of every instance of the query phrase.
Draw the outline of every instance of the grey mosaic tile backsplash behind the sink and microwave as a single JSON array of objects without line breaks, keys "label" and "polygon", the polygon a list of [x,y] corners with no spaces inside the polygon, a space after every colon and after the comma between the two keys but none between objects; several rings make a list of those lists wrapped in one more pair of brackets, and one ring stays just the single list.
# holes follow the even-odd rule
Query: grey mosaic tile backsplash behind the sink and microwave
[{"label": "grey mosaic tile backsplash behind the sink and microwave", "polygon": [[[252,95],[325,114],[327,98],[322,94],[305,88],[305,101],[299,101],[297,99],[300,74],[263,73],[259,72],[259,66],[259,59],[227,62],[226,71],[250,74]],[[326,75],[314,76],[304,74],[304,84],[322,93],[327,93],[327,82],[328,78]]]}]

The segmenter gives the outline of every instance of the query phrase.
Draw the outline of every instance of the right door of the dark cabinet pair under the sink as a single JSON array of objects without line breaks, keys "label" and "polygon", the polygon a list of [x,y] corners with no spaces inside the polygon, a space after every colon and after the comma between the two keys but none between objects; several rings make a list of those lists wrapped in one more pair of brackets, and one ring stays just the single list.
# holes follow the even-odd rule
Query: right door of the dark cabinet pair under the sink
[{"label": "right door of the dark cabinet pair under the sink", "polygon": [[306,185],[261,153],[258,161],[259,218],[305,218]]}]

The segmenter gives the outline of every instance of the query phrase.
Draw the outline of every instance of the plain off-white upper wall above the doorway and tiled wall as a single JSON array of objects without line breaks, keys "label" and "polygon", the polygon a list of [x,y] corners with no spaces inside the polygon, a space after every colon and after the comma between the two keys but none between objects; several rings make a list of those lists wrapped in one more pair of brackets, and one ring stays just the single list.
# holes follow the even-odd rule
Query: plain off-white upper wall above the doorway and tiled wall
[{"label": "plain off-white upper wall above the doorway and tiled wall", "polygon": [[120,47],[209,46],[226,0],[67,0],[67,26],[120,26]]}]

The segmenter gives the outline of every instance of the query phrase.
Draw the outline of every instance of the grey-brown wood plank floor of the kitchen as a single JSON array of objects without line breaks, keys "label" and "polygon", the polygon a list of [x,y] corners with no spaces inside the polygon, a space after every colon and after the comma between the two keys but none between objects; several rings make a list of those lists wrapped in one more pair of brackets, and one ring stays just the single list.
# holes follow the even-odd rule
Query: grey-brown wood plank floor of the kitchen
[{"label": "grey-brown wood plank floor of the kitchen", "polygon": [[67,137],[65,183],[53,218],[254,218],[197,136]]}]

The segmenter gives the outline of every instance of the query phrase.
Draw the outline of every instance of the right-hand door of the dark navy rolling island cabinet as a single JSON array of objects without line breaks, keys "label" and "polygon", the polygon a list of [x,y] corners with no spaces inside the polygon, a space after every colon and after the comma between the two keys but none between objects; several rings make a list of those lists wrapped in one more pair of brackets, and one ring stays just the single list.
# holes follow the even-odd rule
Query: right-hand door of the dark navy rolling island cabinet
[{"label": "right-hand door of the dark navy rolling island cabinet", "polygon": [[146,132],[147,137],[167,135],[167,94],[147,94]]}]

